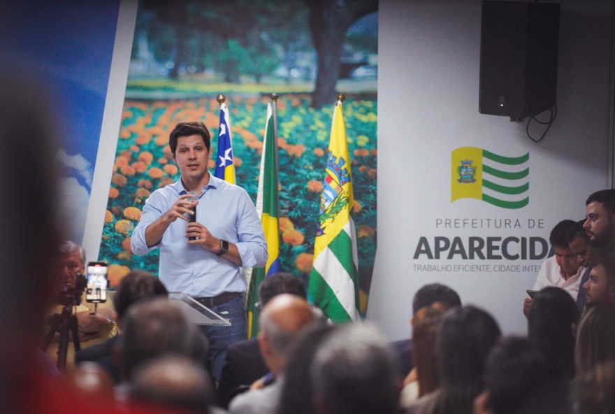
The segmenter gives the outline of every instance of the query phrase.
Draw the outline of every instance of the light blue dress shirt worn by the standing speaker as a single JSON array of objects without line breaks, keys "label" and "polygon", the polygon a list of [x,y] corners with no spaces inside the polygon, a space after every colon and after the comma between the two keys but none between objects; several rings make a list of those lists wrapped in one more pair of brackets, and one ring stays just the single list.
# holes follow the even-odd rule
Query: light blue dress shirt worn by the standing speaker
[{"label": "light blue dress shirt worn by the standing speaker", "polygon": [[145,201],[141,220],[134,229],[131,249],[145,255],[160,248],[159,277],[169,292],[185,292],[192,297],[215,297],[223,292],[245,292],[243,268],[263,267],[267,243],[261,220],[247,192],[210,174],[196,206],[196,221],[212,236],[234,243],[242,266],[234,264],[201,245],[189,245],[188,222],[178,219],[166,229],[157,245],[147,247],[145,229],[166,213],[180,195],[186,194],[182,180],[154,191]]}]

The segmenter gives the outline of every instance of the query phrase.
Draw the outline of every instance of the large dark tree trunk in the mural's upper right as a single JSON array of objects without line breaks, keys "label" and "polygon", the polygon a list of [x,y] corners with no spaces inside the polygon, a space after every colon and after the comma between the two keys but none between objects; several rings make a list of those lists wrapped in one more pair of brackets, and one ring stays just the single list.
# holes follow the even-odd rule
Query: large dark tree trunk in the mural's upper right
[{"label": "large dark tree trunk in the mural's upper right", "polygon": [[378,10],[378,0],[305,0],[310,9],[310,33],[318,55],[318,75],[312,106],[331,103],[340,75],[346,31],[359,18]]}]

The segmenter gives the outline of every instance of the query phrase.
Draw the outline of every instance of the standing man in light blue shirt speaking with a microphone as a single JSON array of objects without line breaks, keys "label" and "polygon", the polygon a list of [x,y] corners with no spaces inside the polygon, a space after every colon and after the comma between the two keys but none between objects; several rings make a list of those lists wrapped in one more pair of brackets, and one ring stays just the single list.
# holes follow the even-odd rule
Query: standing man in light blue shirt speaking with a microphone
[{"label": "standing man in light blue shirt speaking with a microphone", "polygon": [[186,292],[231,320],[231,327],[203,327],[219,380],[226,346],[247,337],[241,268],[265,266],[267,244],[247,192],[209,173],[210,134],[203,122],[180,122],[168,145],[180,180],[145,201],[131,248],[136,255],[160,248],[159,277],[167,290]]}]

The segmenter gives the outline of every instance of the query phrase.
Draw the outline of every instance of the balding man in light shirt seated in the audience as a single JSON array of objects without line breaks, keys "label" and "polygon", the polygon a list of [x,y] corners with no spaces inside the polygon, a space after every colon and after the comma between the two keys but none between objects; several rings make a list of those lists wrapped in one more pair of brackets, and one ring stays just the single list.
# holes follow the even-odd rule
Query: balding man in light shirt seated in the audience
[{"label": "balding man in light shirt seated in the audience", "polygon": [[314,321],[305,299],[293,294],[278,294],[263,308],[258,340],[267,368],[275,383],[235,397],[229,406],[233,414],[266,414],[277,410],[284,383],[284,368],[289,351],[299,334]]}]

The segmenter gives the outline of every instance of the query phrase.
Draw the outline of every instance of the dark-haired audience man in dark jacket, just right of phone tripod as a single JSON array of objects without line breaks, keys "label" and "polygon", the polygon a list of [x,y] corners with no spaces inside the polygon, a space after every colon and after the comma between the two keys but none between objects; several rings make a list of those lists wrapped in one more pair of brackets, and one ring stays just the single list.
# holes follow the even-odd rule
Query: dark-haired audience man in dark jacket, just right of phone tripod
[{"label": "dark-haired audience man in dark jacket, just right of phone tripod", "polygon": [[[145,271],[131,271],[120,282],[115,295],[113,295],[113,307],[115,319],[122,328],[122,320],[126,311],[142,299],[152,297],[166,297],[166,287],[156,276]],[[120,350],[118,345],[120,335],[110,338],[108,341],[99,343],[90,348],[80,350],[75,355],[75,363],[92,361],[101,364],[109,373],[113,381],[120,383]]]}]

